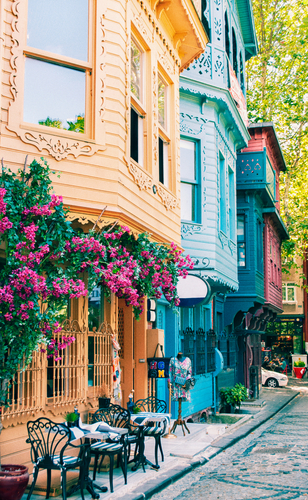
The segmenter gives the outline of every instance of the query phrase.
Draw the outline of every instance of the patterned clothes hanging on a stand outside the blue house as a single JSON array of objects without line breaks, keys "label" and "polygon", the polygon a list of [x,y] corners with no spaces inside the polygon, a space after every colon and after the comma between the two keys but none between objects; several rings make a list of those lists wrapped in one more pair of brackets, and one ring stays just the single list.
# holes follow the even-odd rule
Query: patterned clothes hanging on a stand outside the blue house
[{"label": "patterned clothes hanging on a stand outside the blue house", "polygon": [[182,401],[190,401],[190,390],[185,386],[186,380],[192,376],[190,358],[184,356],[171,358],[169,373],[172,401],[178,401],[180,398]]}]

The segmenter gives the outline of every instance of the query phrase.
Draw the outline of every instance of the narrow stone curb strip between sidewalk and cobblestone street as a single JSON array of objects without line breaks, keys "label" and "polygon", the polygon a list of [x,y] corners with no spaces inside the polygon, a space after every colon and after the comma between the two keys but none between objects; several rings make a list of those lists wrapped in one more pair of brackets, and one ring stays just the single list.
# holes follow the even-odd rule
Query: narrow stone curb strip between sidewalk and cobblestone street
[{"label": "narrow stone curb strip between sidewalk and cobblestone street", "polygon": [[[273,396],[274,394],[275,393],[273,393]],[[195,468],[204,465],[223,450],[233,446],[246,437],[254,429],[257,429],[260,425],[264,424],[264,422],[276,415],[276,413],[282,410],[290,401],[296,398],[298,394],[299,392],[297,391],[288,392],[282,396],[279,394],[279,397],[274,397],[272,400],[270,399],[266,406],[260,404],[259,406],[262,407],[262,411],[258,412],[256,415],[252,415],[249,419],[245,419],[245,422],[240,426],[236,424],[232,426],[234,430],[230,429],[226,434],[215,439],[210,446],[189,462],[172,467],[166,471],[165,474],[139,485],[133,491],[125,495],[125,500],[143,500],[151,498],[154,494],[159,493],[159,491],[181,479]],[[258,405],[255,404],[252,406]]]}]

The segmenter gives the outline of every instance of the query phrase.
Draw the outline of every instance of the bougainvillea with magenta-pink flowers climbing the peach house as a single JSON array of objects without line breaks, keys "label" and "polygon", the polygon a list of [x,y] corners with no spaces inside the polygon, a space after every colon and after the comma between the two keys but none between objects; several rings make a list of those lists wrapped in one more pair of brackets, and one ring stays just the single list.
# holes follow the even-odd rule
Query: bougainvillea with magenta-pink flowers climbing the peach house
[{"label": "bougainvillea with magenta-pink flowers climbing the peach house", "polygon": [[11,380],[33,351],[59,360],[75,340],[63,337],[57,344],[53,338],[68,299],[101,283],[107,296],[125,298],[138,319],[144,296],[164,293],[177,305],[178,277],[193,266],[174,243],[157,244],[128,227],[75,230],[62,198],[52,194],[51,173],[47,163],[33,161],[17,174],[3,166],[0,176],[0,406],[8,403]]}]

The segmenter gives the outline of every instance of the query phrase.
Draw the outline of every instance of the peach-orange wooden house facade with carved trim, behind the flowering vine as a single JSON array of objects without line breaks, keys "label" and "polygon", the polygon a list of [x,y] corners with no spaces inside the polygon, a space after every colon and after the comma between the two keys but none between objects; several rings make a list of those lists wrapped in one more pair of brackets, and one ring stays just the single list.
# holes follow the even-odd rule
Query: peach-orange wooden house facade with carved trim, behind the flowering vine
[{"label": "peach-orange wooden house facade with carved trim, behind the flowering vine", "polygon": [[[16,171],[26,155],[28,164],[43,156],[55,172],[54,191],[69,207],[69,220],[85,231],[106,207],[98,227],[118,221],[158,242],[180,244],[179,74],[208,41],[194,4],[71,0],[57,5],[48,10],[48,3],[37,0],[1,2],[5,165]],[[67,114],[60,116],[66,106]],[[121,346],[123,405],[133,388],[137,399],[147,396],[146,364],[137,362],[147,357],[146,314],[136,322],[122,302],[114,296],[111,303],[101,301],[93,326],[88,299],[73,301],[63,332],[76,342],[61,362],[51,365],[35,353],[16,376],[12,404],[1,414],[3,463],[29,464],[29,418],[60,421],[74,405],[86,418],[97,407],[102,382],[112,387],[112,333]]]}]

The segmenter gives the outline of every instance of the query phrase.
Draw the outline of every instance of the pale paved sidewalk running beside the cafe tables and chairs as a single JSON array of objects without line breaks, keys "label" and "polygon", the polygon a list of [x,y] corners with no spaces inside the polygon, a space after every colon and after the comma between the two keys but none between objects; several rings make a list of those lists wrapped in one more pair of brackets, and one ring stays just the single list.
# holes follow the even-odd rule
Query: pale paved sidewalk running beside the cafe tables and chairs
[{"label": "pale paved sidewalk running beside the cafe tables and chairs", "polygon": [[[292,378],[293,379],[293,378]],[[289,381],[293,386],[293,380]],[[302,386],[307,387],[307,381]],[[299,388],[299,390],[301,390]],[[140,467],[136,472],[128,468],[128,484],[124,485],[120,469],[114,470],[114,493],[100,493],[100,500],[141,500],[151,498],[169,484],[175,482],[194,468],[203,465],[226,448],[232,446],[240,439],[247,436],[254,429],[262,425],[279,410],[286,406],[299,394],[297,387],[290,389],[263,388],[259,400],[248,402],[243,407],[243,418],[236,424],[187,424],[190,434],[183,436],[181,428],[177,428],[177,439],[163,439],[165,461],[161,462],[159,471],[146,467],[146,472]],[[153,438],[146,440],[146,456],[154,462]],[[160,457],[160,455],[159,455]],[[96,483],[108,486],[109,473],[102,472],[97,475]],[[26,494],[22,500],[26,500]],[[31,500],[42,500],[40,495],[32,495]],[[62,495],[54,498],[60,500]],[[70,500],[81,500],[80,493],[69,497]],[[91,495],[85,492],[86,500]]]}]

